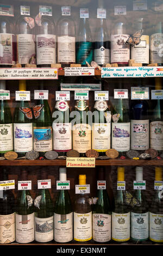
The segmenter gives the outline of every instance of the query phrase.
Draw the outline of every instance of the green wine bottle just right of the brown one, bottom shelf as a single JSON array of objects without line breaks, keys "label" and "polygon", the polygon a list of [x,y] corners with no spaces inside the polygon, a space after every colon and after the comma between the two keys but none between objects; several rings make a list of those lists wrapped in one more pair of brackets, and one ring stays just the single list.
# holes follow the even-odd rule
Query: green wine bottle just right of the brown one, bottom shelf
[{"label": "green wine bottle just right of the brown one, bottom shelf", "polygon": [[98,169],[97,202],[93,204],[92,233],[96,242],[109,242],[111,240],[111,206],[106,191],[104,167]]}]

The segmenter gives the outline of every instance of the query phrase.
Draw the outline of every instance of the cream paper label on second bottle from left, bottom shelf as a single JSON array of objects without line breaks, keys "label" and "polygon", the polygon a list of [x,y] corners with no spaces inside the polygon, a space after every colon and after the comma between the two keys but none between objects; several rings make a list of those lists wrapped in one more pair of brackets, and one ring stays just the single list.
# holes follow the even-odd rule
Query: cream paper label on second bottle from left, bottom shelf
[{"label": "cream paper label on second bottle from left, bottom shelf", "polygon": [[16,214],[16,242],[29,243],[34,237],[34,212],[29,215]]}]

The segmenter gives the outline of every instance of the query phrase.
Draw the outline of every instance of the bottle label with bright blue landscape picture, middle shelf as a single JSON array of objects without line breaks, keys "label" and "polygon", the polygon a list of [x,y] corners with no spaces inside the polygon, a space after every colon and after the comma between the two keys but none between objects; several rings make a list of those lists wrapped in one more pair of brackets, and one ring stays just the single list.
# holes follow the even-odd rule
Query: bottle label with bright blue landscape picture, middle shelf
[{"label": "bottle label with bright blue landscape picture, middle shelf", "polygon": [[46,152],[53,150],[52,127],[33,127],[34,150]]}]

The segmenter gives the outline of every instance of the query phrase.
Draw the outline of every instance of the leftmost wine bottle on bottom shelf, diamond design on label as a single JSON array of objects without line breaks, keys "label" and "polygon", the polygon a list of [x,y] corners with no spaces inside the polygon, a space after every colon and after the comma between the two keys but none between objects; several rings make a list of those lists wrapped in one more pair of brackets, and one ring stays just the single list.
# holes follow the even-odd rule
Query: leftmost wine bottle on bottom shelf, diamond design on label
[{"label": "leftmost wine bottle on bottom shelf, diamond design on label", "polygon": [[[1,176],[3,181],[9,181],[8,170],[3,169]],[[15,241],[15,198],[12,190],[0,191],[0,243]]]}]

